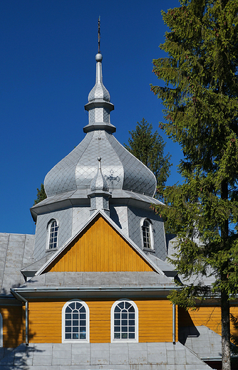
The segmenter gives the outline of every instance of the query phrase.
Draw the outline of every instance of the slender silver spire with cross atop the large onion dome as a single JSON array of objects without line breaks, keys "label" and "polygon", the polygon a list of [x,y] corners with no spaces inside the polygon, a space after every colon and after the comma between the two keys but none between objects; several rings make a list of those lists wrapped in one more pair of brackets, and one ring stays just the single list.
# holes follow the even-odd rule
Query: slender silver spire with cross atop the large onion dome
[{"label": "slender silver spire with cross atop the large onion dome", "polygon": [[93,89],[88,94],[88,104],[84,107],[88,110],[88,125],[83,127],[84,132],[95,129],[105,129],[108,132],[115,132],[115,126],[110,124],[110,111],[114,105],[110,102],[110,94],[103,85],[102,60],[100,53],[100,17],[98,18],[98,54],[95,56],[96,80]]}]

